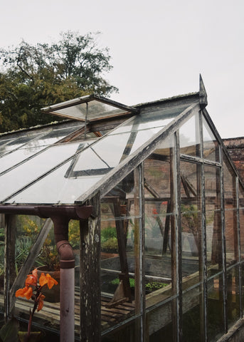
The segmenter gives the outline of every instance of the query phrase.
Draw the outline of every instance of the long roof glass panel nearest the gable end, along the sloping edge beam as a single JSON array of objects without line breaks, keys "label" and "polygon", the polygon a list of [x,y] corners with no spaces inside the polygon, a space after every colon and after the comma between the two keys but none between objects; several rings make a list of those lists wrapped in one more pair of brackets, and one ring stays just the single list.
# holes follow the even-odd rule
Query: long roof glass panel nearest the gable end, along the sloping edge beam
[{"label": "long roof glass panel nearest the gable end, along the sloping edge beam", "polygon": [[[187,106],[136,115],[6,202],[73,204]],[[27,164],[27,163],[26,163]],[[1,181],[1,177],[0,177]],[[0,190],[1,191],[1,190]]]}]

